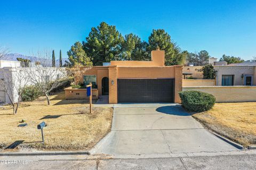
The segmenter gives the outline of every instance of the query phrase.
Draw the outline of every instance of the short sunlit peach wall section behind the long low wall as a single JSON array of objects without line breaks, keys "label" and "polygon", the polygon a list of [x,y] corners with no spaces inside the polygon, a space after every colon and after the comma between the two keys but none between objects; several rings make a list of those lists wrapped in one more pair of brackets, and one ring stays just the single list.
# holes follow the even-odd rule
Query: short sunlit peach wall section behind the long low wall
[{"label": "short sunlit peach wall section behind the long low wall", "polygon": [[183,79],[182,86],[216,86],[216,80]]}]

